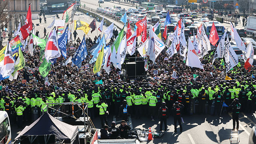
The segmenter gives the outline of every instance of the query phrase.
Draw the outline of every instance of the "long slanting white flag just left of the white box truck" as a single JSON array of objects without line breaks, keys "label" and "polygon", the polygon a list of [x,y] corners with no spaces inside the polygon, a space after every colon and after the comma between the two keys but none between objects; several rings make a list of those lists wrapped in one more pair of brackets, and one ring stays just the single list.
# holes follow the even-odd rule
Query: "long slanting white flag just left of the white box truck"
[{"label": "long slanting white flag just left of the white box truck", "polygon": [[232,42],[236,44],[236,46],[244,51],[247,52],[246,50],[246,46],[244,45],[244,42],[241,40],[239,34],[237,33],[236,29],[234,28],[232,22],[230,22],[230,26],[231,26],[231,38],[232,38]]}]

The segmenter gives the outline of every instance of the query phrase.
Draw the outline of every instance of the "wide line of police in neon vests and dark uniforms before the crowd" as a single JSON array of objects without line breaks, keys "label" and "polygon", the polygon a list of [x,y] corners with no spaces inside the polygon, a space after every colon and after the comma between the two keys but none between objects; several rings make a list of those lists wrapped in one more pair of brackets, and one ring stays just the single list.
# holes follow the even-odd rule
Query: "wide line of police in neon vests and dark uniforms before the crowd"
[{"label": "wide line of police in neon vests and dark uniforms before the crowd", "polygon": [[24,117],[24,120],[30,120],[36,110],[45,112],[47,110],[45,103],[56,106],[54,103],[86,102],[89,116],[91,118],[100,116],[103,127],[104,120],[108,124],[106,118],[108,113],[120,116],[126,121],[129,114],[135,118],[149,116],[154,120],[158,116],[157,112],[162,102],[166,103],[168,109],[172,109],[177,101],[178,105],[184,107],[181,114],[219,115],[223,101],[229,105],[234,98],[239,98],[242,112],[252,112],[256,110],[255,88],[255,81],[252,84],[247,81],[226,83],[220,81],[217,85],[211,82],[196,85],[172,82],[154,86],[146,82],[140,84],[124,82],[104,86],[95,85],[94,88],[90,86],[77,90],[52,90],[49,94],[38,91],[10,97],[4,94],[4,98],[0,100],[0,108],[12,115],[13,120],[18,118],[19,125],[22,125],[21,117]]}]

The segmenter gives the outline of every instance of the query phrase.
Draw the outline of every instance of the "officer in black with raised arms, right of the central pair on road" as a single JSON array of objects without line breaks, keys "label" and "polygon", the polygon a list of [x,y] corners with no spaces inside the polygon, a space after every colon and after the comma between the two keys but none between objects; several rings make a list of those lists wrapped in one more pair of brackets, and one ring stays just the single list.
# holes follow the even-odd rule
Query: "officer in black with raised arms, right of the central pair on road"
[{"label": "officer in black with raised arms, right of the central pair on road", "polygon": [[180,132],[182,132],[181,125],[181,110],[184,108],[183,104],[180,104],[178,101],[175,102],[172,106],[172,113],[174,118],[174,132],[177,132],[177,121],[180,125]]}]

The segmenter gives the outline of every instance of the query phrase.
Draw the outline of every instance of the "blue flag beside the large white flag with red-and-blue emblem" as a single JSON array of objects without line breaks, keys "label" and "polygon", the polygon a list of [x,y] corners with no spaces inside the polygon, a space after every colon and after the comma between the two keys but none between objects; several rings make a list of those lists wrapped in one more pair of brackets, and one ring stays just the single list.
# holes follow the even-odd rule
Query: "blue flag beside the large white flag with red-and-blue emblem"
[{"label": "blue flag beside the large white flag with red-and-blue emblem", "polygon": [[67,42],[68,42],[68,25],[67,25],[65,31],[63,32],[63,34],[58,39],[58,46],[59,46],[60,52],[64,58],[67,57],[67,47],[66,47]]}]

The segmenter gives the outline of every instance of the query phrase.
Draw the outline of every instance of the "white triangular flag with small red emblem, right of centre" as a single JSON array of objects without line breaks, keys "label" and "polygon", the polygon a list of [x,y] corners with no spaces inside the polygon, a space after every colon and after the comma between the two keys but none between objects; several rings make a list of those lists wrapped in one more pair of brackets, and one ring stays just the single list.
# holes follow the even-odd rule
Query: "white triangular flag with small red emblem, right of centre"
[{"label": "white triangular flag with small red emblem, right of centre", "polygon": [[203,64],[199,60],[190,38],[188,38],[188,57],[186,65],[190,67],[201,68],[204,70]]}]

